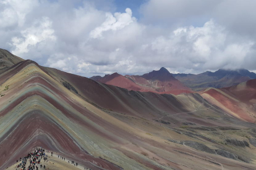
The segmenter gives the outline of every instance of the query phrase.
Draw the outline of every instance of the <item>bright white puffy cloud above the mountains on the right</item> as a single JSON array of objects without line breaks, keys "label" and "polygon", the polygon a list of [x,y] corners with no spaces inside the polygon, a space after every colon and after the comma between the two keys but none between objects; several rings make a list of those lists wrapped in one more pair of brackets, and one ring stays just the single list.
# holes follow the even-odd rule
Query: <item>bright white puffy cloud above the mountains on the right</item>
[{"label": "bright white puffy cloud above the mountains on the right", "polygon": [[253,45],[254,41],[241,41],[240,37],[229,34],[223,26],[210,20],[202,27],[177,28],[169,37],[160,36],[147,46],[147,50],[158,55],[155,63],[159,65],[168,61],[172,68],[200,71],[241,68]]}]

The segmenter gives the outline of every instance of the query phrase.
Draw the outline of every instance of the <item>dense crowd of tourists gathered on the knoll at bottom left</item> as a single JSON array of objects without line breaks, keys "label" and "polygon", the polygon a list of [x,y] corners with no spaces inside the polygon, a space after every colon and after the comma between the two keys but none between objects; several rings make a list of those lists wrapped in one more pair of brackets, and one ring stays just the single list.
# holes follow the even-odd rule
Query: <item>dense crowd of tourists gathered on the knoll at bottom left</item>
[{"label": "dense crowd of tourists gathered on the knoll at bottom left", "polygon": [[27,156],[20,158],[20,160],[17,160],[17,163],[20,161],[20,163],[17,165],[17,168],[20,168],[20,170],[38,170],[40,166],[40,168],[43,167],[45,169],[45,165],[41,164],[42,158],[45,161],[47,160],[45,150],[43,148],[34,148],[33,151],[28,153]]}]

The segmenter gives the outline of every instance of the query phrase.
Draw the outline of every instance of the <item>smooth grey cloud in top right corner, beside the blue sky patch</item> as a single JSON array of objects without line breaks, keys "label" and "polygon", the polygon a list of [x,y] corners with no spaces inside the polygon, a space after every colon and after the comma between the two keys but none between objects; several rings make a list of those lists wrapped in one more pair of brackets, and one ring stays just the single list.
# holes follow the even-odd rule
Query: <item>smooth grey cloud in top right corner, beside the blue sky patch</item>
[{"label": "smooth grey cloud in top right corner, beside the blue sky patch", "polygon": [[211,18],[236,34],[256,35],[256,1],[150,0],[141,6],[143,22],[168,26],[201,26]]}]

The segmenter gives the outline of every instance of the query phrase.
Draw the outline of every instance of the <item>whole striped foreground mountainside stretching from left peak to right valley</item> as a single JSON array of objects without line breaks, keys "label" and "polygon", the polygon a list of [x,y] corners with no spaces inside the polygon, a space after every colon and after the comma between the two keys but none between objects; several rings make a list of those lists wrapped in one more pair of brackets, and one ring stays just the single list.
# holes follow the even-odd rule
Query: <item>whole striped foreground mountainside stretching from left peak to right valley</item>
[{"label": "whole striped foreground mountainside stretching from left peak to right valley", "polygon": [[[128,91],[31,60],[0,84],[0,169],[38,146],[92,169],[255,169],[255,124],[206,92]],[[255,96],[220,91],[255,115]]]}]

